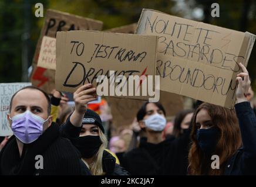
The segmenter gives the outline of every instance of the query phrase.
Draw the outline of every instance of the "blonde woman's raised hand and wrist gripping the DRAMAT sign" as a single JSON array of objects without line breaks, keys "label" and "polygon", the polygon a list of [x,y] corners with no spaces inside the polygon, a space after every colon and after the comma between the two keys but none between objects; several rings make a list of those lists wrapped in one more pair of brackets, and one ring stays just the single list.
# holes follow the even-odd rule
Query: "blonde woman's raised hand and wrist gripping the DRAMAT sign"
[{"label": "blonde woman's raised hand and wrist gripping the DRAMAT sign", "polygon": [[92,84],[80,86],[74,93],[75,111],[70,116],[70,122],[76,126],[82,126],[83,115],[86,112],[86,105],[97,99],[96,88]]}]

